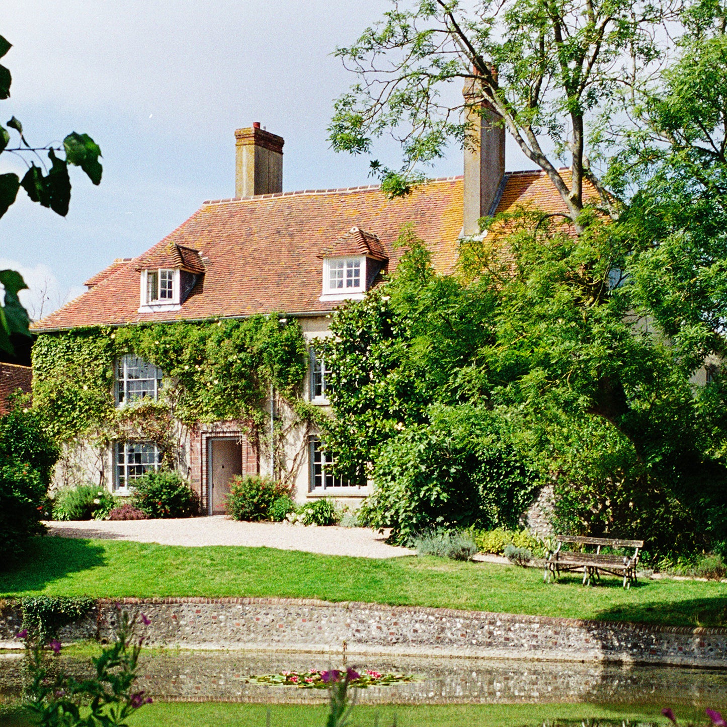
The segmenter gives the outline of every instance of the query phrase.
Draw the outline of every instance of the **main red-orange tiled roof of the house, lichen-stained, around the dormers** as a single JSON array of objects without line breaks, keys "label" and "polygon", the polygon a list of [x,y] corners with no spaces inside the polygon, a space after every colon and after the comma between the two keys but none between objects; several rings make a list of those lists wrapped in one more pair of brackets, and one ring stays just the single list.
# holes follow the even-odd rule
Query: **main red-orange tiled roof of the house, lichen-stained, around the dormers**
[{"label": "main red-orange tiled roof of the house, lichen-stained, around the dormers", "polygon": [[[507,174],[497,211],[518,204],[565,211],[542,172]],[[433,180],[411,195],[393,200],[377,186],[369,186],[207,201],[148,252],[106,268],[91,278],[95,284],[87,293],[33,328],[241,317],[273,311],[326,313],[340,303],[318,300],[321,251],[337,241],[343,230],[356,227],[366,230],[371,250],[376,249],[372,243],[376,236],[377,254],[389,259],[392,272],[403,252],[394,242],[409,222],[429,246],[435,269],[451,272],[462,231],[462,177]],[[166,256],[170,246],[198,252],[204,260],[204,276],[180,310],[139,313],[137,269],[157,256]]]}]

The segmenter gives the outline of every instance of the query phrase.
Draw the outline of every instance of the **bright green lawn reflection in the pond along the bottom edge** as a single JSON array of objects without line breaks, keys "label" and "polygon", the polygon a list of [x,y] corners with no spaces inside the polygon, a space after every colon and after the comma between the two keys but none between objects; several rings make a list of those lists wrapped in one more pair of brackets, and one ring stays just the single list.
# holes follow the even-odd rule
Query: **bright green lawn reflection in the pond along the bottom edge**
[{"label": "bright green lawn reflection in the pond along the bottom edge", "polygon": [[[718,705],[715,705],[715,707]],[[323,727],[328,708],[302,704],[228,704],[225,702],[155,702],[129,720],[129,727]],[[675,709],[680,723],[706,723],[704,710]],[[567,720],[580,727],[581,720],[598,720],[619,727],[622,720],[669,725],[659,705],[601,704],[382,704],[355,707],[357,727],[521,727],[561,724]],[[611,721],[612,720],[612,721]],[[21,710],[0,715],[4,727],[31,724]]]}]

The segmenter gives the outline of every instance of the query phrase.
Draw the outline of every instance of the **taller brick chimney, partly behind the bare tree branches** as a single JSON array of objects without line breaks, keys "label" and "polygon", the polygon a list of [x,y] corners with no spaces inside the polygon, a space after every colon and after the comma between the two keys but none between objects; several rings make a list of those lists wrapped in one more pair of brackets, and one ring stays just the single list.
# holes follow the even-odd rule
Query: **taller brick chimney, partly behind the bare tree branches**
[{"label": "taller brick chimney, partly behind the bare tree branches", "polygon": [[483,100],[478,86],[473,80],[463,91],[467,121],[472,124],[471,136],[465,145],[465,214],[462,220],[465,235],[478,234],[477,221],[494,211],[491,208],[505,176],[505,127],[497,124],[501,117]]}]

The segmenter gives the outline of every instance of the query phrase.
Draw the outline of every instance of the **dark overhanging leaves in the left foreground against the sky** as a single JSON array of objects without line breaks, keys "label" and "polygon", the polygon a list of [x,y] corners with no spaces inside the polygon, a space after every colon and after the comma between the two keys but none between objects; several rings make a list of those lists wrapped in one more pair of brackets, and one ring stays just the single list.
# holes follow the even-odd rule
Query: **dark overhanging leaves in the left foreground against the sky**
[{"label": "dark overhanging leaves in the left foreground against the sky", "polygon": [[[7,54],[12,45],[0,36],[0,58]],[[8,68],[0,65],[0,100],[10,97],[12,76]],[[10,146],[10,132],[17,134],[17,144]],[[64,156],[58,156],[57,152]],[[47,152],[49,165],[41,157]],[[100,184],[102,167],[98,161],[101,150],[88,134],[71,132],[63,140],[63,146],[47,144],[32,146],[25,137],[23,124],[15,116],[7,122],[7,128],[0,125],[0,153],[11,153],[23,159],[28,166],[23,179],[14,172],[0,174],[0,217],[15,203],[22,187],[33,202],[49,207],[56,214],[65,217],[71,201],[71,177],[68,165],[80,166],[89,179]],[[30,160],[30,161],[28,161]],[[36,164],[39,161],[39,164]],[[30,321],[28,313],[20,304],[17,294],[26,289],[23,277],[15,270],[0,270],[0,284],[4,286],[4,305],[0,306],[0,350],[13,353],[12,337],[28,336]]]}]

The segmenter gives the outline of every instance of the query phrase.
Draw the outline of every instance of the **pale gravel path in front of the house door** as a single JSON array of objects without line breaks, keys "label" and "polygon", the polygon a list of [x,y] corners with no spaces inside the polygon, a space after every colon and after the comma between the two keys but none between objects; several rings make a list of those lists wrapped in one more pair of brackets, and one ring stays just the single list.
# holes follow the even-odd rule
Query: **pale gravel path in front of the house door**
[{"label": "pale gravel path in front of the house door", "polygon": [[366,528],[304,527],[288,523],[240,523],[225,515],[176,520],[122,520],[47,522],[48,534],[65,538],[134,540],[160,545],[246,545],[305,550],[324,555],[356,555],[364,558],[395,558],[414,555],[394,547]]}]

